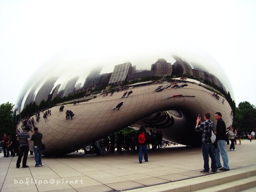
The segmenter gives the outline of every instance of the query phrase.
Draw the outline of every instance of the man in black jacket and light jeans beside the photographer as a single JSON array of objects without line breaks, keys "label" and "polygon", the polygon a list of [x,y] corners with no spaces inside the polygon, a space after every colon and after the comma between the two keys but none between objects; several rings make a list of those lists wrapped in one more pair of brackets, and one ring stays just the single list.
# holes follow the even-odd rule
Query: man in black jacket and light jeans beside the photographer
[{"label": "man in black jacket and light jeans beside the photographer", "polygon": [[[220,168],[220,171],[229,171],[230,167],[228,166],[228,156],[226,151],[226,125],[221,117],[222,115],[220,112],[215,113],[215,119],[217,120],[217,126],[215,131],[216,141],[217,141],[215,158],[216,158],[217,168]],[[221,166],[220,155],[223,160],[223,167]]]}]

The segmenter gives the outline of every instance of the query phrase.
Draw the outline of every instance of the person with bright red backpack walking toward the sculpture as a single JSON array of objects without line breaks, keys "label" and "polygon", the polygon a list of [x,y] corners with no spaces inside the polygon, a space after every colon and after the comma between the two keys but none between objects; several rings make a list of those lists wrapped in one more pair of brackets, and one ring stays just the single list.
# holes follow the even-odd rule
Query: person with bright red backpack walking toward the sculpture
[{"label": "person with bright red backpack walking toward the sculpture", "polygon": [[139,162],[142,163],[143,157],[142,154],[144,152],[144,160],[148,162],[148,134],[145,130],[145,126],[140,126],[136,134],[137,145],[139,146]]}]

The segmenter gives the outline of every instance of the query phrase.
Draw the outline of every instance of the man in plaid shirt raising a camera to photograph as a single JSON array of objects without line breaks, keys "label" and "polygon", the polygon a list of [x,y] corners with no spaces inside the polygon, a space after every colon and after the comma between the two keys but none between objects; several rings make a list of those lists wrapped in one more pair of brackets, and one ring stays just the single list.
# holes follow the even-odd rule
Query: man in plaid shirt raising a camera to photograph
[{"label": "man in plaid shirt raising a camera to photograph", "polygon": [[[199,125],[200,124],[200,125]],[[204,113],[204,122],[201,117],[196,119],[195,131],[202,131],[202,153],[204,158],[204,169],[200,173],[209,173],[209,157],[211,158],[211,172],[217,172],[214,149],[211,142],[213,122],[210,120],[210,113]]]}]

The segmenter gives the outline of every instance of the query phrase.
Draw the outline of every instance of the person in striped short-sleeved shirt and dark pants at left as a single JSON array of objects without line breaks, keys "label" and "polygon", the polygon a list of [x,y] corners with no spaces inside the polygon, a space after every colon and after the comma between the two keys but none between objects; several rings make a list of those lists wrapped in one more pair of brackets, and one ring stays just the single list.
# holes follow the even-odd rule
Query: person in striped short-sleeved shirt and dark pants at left
[{"label": "person in striped short-sleeved shirt and dark pants at left", "polygon": [[20,168],[20,162],[21,162],[21,158],[23,157],[23,154],[24,154],[24,157],[22,161],[22,168],[29,167],[26,165],[26,160],[29,154],[29,142],[30,142],[30,135],[28,132],[29,132],[29,128],[25,127],[24,131],[21,132],[17,138],[17,141],[20,142],[20,151],[19,151],[19,157],[16,163],[16,168]]}]

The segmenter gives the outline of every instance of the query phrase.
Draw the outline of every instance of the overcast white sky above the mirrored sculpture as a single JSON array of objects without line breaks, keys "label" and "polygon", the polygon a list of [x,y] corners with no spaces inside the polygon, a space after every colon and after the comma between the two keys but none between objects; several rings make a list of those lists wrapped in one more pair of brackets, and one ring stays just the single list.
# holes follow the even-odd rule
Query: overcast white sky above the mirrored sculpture
[{"label": "overcast white sky above the mirrored sculpture", "polygon": [[255,0],[0,0],[0,104],[15,104],[39,66],[81,41],[129,50],[170,37],[218,61],[236,105],[256,105]]}]

